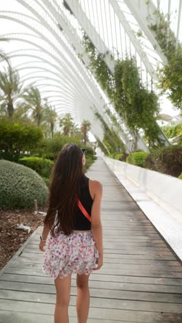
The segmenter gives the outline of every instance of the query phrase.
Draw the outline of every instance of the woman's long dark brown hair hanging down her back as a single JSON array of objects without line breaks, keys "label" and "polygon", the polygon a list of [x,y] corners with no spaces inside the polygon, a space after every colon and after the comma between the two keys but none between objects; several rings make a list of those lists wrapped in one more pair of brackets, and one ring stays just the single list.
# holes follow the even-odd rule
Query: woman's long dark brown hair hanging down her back
[{"label": "woman's long dark brown hair hanging down her back", "polygon": [[72,233],[77,198],[84,177],[83,153],[77,144],[65,144],[52,169],[48,212],[43,221],[49,224],[52,236],[54,229],[65,235]]}]

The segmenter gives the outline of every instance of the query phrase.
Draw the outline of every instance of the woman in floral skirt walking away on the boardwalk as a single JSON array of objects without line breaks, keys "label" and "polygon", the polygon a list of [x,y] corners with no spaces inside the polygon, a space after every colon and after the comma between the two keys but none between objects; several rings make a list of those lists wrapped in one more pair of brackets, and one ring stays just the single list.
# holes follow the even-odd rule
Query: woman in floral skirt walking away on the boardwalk
[{"label": "woman in floral skirt walking away on the boardwalk", "polygon": [[92,270],[103,265],[102,185],[83,174],[83,165],[85,150],[77,144],[66,144],[52,170],[49,207],[39,248],[44,251],[43,271],[54,278],[56,286],[54,323],[69,322],[72,273],[77,273],[78,323],[87,322],[88,278]]}]

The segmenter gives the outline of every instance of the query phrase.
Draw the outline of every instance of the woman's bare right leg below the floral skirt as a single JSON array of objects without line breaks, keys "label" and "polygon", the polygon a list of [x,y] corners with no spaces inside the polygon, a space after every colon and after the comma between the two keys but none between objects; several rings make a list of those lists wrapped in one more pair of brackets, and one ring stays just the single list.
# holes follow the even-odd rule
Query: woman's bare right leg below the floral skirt
[{"label": "woman's bare right leg below the floral skirt", "polygon": [[89,275],[77,274],[77,317],[78,323],[86,323],[90,306],[90,293],[88,288]]}]

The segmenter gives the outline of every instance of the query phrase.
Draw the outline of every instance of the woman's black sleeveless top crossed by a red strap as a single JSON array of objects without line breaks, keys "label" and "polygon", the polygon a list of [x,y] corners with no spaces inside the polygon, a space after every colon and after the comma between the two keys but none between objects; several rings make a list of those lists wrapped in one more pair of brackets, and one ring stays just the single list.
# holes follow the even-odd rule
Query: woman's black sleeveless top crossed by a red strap
[{"label": "woman's black sleeveless top crossed by a red strap", "polygon": [[[88,214],[91,216],[93,199],[90,195],[88,181],[89,178],[84,176],[79,199],[81,201],[81,204],[84,206],[85,210],[88,211]],[[83,215],[79,206],[77,206],[77,213],[73,230],[91,230],[91,222],[85,217],[85,215]]]}]

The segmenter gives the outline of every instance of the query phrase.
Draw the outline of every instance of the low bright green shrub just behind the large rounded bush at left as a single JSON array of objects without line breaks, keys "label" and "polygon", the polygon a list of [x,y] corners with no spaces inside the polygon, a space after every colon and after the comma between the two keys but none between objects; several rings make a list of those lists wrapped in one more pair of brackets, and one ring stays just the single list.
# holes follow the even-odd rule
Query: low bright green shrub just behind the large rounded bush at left
[{"label": "low bright green shrub just behind the large rounded bush at left", "polygon": [[41,157],[24,157],[19,159],[19,163],[32,168],[42,177],[50,177],[54,162],[50,159]]}]

